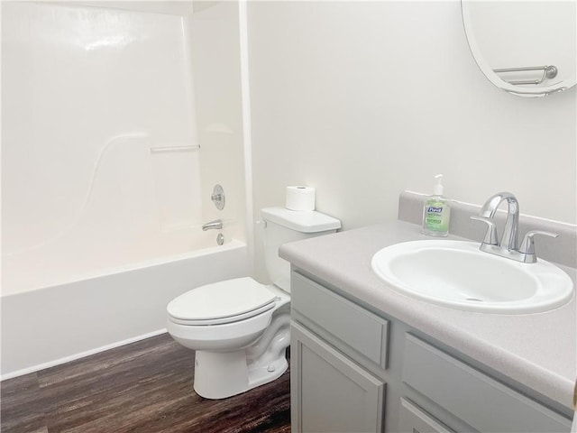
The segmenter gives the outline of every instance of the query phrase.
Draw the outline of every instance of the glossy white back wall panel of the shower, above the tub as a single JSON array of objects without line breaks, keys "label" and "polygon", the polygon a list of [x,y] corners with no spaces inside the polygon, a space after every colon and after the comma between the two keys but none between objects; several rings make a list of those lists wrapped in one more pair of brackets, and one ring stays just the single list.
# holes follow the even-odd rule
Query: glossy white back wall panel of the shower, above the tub
[{"label": "glossy white back wall panel of the shower, above the tub", "polygon": [[202,224],[187,22],[2,3],[3,294],[61,252],[125,264]]}]

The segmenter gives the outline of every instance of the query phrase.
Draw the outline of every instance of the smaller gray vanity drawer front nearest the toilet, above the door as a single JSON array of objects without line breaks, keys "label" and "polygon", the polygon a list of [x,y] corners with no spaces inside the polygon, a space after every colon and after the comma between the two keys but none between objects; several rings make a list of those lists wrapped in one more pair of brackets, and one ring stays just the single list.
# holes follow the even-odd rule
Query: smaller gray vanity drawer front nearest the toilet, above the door
[{"label": "smaller gray vanity drawer front nearest the toilet, above the door", "polygon": [[387,368],[388,320],[297,272],[291,275],[290,298],[301,321],[306,321],[305,325],[313,331],[320,328],[323,337],[345,355],[361,363],[362,355],[382,370]]}]

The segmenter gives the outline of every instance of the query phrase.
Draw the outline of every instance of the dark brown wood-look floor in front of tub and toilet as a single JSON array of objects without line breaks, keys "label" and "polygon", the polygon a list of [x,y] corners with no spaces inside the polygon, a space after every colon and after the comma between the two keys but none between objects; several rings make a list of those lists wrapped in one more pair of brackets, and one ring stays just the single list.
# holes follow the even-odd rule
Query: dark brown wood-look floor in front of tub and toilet
[{"label": "dark brown wood-look floor in front of tub and toilet", "polygon": [[192,388],[194,352],[168,334],[1,383],[2,433],[288,433],[289,372],[212,401]]}]

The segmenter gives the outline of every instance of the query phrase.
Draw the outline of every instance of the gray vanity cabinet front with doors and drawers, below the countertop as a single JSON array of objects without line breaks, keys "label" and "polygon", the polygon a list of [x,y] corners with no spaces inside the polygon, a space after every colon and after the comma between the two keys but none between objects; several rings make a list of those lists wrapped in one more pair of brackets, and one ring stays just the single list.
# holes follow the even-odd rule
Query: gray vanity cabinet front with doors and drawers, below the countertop
[{"label": "gray vanity cabinet front with doors and drawers, below the countertop", "polygon": [[298,272],[291,278],[293,432],[570,431],[570,415],[538,394],[340,290]]}]

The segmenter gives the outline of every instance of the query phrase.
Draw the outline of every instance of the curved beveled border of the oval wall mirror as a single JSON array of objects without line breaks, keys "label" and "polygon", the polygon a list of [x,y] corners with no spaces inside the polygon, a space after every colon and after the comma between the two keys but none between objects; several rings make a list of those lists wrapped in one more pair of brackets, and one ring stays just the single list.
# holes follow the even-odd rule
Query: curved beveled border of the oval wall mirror
[{"label": "curved beveled border of the oval wall mirror", "polygon": [[501,88],[512,95],[516,95],[517,97],[546,97],[548,95],[562,92],[563,90],[567,90],[575,86],[575,82],[577,81],[575,76],[565,78],[563,81],[555,83],[554,85],[543,86],[539,88],[519,87],[500,78],[482,56],[481,50],[479,49],[479,44],[475,39],[474,32],[472,32],[471,8],[467,7],[467,5],[473,3],[474,1],[475,0],[461,0],[461,14],[463,18],[465,39],[469,45],[469,51],[472,53],[473,60],[475,60],[483,75],[489,79],[495,87]]}]

